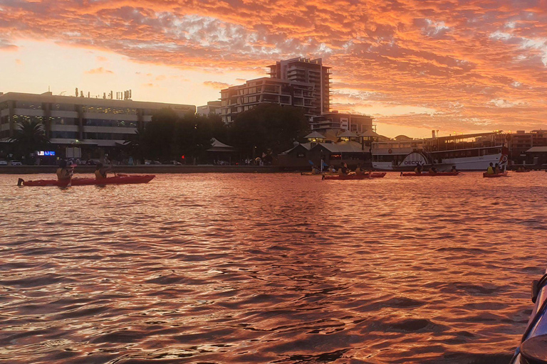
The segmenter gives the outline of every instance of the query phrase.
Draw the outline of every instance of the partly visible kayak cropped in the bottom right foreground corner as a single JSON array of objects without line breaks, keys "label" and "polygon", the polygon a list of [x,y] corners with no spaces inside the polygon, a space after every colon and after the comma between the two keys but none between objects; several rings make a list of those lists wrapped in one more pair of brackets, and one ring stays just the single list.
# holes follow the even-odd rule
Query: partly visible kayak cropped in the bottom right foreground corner
[{"label": "partly visible kayak cropped in the bottom right foreground corner", "polygon": [[510,364],[546,363],[547,358],[547,274],[532,282],[532,314],[521,343]]}]

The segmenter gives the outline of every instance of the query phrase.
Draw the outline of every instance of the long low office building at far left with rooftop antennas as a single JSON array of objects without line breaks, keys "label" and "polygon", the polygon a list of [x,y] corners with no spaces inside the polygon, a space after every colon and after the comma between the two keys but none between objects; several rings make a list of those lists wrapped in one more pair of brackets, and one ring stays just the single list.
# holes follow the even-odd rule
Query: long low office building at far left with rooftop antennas
[{"label": "long low office building at far left with rooftop antennas", "polygon": [[0,141],[26,120],[41,122],[52,144],[115,146],[166,107],[181,116],[196,112],[194,105],[6,92],[0,95]]}]

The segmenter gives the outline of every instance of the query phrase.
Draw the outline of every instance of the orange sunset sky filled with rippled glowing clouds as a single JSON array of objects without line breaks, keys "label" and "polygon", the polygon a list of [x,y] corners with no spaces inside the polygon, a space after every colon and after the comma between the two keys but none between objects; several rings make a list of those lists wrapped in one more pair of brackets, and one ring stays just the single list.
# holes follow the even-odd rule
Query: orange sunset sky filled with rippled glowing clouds
[{"label": "orange sunset sky filled with rippled glowing clouds", "polygon": [[199,106],[294,57],[389,137],[547,129],[547,0],[0,0],[0,92]]}]

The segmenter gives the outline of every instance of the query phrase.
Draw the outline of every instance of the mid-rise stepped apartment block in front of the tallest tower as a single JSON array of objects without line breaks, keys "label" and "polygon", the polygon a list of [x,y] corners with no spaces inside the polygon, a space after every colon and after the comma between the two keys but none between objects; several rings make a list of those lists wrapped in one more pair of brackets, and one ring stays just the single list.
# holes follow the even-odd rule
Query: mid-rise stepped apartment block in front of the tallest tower
[{"label": "mid-rise stepped apartment block in front of the tallest tower", "polygon": [[221,117],[224,124],[231,124],[240,112],[262,103],[301,107],[308,117],[314,115],[314,85],[306,82],[261,77],[244,85],[231,86],[220,92]]}]

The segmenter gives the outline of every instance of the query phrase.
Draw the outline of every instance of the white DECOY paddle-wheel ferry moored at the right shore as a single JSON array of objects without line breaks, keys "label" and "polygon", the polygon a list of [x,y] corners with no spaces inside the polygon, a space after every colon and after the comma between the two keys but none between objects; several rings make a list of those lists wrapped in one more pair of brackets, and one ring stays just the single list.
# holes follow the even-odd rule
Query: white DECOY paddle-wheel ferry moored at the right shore
[{"label": "white DECOY paddle-wheel ferry moored at the right shore", "polygon": [[373,168],[383,171],[412,171],[418,164],[439,171],[456,166],[459,171],[485,171],[489,164],[504,166],[509,149],[501,132],[460,134],[427,139],[397,137],[371,146]]}]

